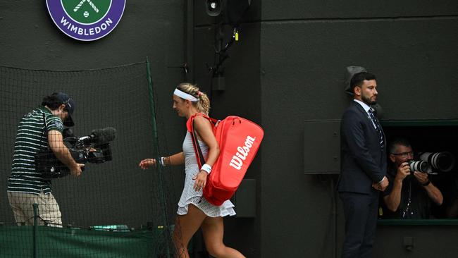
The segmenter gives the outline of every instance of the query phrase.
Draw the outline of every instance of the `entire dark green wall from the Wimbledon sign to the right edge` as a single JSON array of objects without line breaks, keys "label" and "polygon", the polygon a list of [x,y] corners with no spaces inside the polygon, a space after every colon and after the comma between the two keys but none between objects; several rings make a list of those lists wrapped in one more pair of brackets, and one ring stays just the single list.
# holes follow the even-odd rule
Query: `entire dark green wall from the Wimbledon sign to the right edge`
[{"label": "entire dark green wall from the Wimbledon sign to the right edge", "polygon": [[[182,121],[170,109],[171,89],[190,80],[211,92],[206,64],[213,64],[214,24],[202,1],[127,1],[110,35],[77,42],[52,23],[44,1],[0,1],[0,64],[81,70],[149,56],[168,146],[175,151],[184,130],[176,129]],[[266,133],[247,173],[256,180],[256,216],[226,219],[225,242],[247,257],[339,253],[342,210],[338,206],[335,228],[330,176],[304,174],[304,121],[340,119],[349,103],[343,93],[347,66],[377,75],[383,120],[457,119],[457,29],[458,2],[452,0],[252,1],[240,42],[224,63],[225,91],[212,93],[213,116],[245,116]],[[185,62],[190,74],[168,68]],[[182,179],[175,180],[179,193]],[[430,229],[416,226],[409,234],[423,239],[421,232]],[[455,228],[436,229],[457,237]],[[374,257],[402,257],[404,249],[392,240],[401,239],[400,231],[380,227]],[[435,242],[431,248],[440,253],[450,245]]]}]

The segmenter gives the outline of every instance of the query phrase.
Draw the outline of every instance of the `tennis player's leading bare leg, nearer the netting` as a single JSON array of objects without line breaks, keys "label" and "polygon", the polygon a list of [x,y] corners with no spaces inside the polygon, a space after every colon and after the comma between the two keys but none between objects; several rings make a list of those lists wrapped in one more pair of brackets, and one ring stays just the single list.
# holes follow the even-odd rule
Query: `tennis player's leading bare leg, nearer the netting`
[{"label": "tennis player's leading bare leg, nearer the netting", "polygon": [[204,211],[189,204],[187,207],[187,214],[177,215],[175,222],[175,230],[173,231],[173,243],[177,250],[176,257],[189,258],[187,253],[187,245],[190,242],[192,235],[196,233],[202,225],[206,215]]}]

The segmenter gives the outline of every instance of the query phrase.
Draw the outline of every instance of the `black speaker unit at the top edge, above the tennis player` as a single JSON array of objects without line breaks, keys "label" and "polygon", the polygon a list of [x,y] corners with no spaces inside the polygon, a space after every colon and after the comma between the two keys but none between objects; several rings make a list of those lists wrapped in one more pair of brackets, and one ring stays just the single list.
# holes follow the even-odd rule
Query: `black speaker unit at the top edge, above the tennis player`
[{"label": "black speaker unit at the top edge, above the tennis player", "polygon": [[209,16],[222,16],[223,22],[237,27],[251,5],[251,0],[206,0]]}]

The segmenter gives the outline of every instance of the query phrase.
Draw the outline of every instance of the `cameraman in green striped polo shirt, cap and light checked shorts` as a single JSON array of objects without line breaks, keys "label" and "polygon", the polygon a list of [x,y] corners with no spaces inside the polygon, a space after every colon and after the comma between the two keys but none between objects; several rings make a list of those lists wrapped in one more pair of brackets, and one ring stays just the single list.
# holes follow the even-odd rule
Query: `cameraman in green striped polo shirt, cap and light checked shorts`
[{"label": "cameraman in green striped polo shirt, cap and light checked shorts", "polygon": [[73,126],[71,114],[75,102],[58,92],[44,97],[42,105],[25,114],[18,125],[11,175],[8,178],[8,201],[18,225],[33,224],[32,204],[39,204],[39,223],[61,226],[61,211],[51,192],[51,180],[35,169],[35,155],[51,149],[73,176],[81,175],[81,167],[63,144],[63,125]]}]

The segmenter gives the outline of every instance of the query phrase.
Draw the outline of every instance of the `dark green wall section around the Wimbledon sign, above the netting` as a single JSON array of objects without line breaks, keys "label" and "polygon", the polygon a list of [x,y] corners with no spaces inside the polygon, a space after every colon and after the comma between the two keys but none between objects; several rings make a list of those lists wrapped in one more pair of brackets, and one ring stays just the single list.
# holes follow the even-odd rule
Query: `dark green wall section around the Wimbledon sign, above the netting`
[{"label": "dark green wall section around the Wimbledon sign, above the netting", "polygon": [[84,70],[137,63],[146,56],[155,70],[167,66],[166,61],[179,64],[183,62],[183,8],[183,1],[176,0],[126,1],[123,17],[109,35],[80,42],[58,30],[46,1],[1,1],[0,64]]}]

